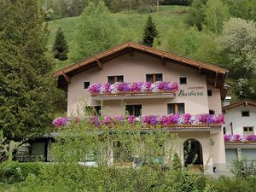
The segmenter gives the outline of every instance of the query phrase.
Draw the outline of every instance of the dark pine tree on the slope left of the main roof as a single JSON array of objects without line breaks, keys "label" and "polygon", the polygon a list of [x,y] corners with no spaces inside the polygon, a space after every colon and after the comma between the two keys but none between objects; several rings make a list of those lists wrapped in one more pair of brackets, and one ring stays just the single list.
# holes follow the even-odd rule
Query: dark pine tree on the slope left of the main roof
[{"label": "dark pine tree on the slope left of the main roof", "polygon": [[56,33],[55,44],[52,50],[56,59],[61,61],[67,60],[68,45],[61,27]]}]

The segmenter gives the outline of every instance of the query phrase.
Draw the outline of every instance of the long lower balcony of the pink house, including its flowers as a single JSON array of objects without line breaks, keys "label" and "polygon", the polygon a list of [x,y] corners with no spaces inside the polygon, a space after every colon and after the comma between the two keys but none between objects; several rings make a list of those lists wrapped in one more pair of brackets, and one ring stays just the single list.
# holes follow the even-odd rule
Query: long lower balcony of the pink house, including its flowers
[{"label": "long lower balcony of the pink house, including its flowers", "polygon": [[141,131],[153,129],[165,129],[170,131],[221,131],[224,124],[224,116],[222,114],[169,114],[169,115],[146,115],[135,117],[133,115],[123,116],[88,116],[83,119],[57,118],[53,121],[55,127],[61,128],[72,125],[73,123],[83,122],[95,128],[109,127],[114,131],[119,125],[127,125],[131,128],[139,128]]}]

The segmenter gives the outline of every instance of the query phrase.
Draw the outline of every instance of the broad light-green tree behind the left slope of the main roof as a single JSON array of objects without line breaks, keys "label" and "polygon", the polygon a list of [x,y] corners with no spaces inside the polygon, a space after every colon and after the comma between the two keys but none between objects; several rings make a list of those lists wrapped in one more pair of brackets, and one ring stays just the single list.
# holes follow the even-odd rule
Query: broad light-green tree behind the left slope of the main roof
[{"label": "broad light-green tree behind the left slope of the main roof", "polygon": [[95,55],[118,42],[118,29],[105,4],[89,3],[79,20],[77,44],[80,58]]}]

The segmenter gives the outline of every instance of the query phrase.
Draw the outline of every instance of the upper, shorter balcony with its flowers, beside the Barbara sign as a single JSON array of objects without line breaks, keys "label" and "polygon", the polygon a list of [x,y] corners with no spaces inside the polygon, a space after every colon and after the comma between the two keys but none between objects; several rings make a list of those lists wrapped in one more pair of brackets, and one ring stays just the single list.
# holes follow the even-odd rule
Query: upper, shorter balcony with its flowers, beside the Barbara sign
[{"label": "upper, shorter balcony with its flowers, beside the Barbara sign", "polygon": [[91,84],[89,91],[94,100],[123,100],[174,98],[176,82],[117,82],[114,84]]}]

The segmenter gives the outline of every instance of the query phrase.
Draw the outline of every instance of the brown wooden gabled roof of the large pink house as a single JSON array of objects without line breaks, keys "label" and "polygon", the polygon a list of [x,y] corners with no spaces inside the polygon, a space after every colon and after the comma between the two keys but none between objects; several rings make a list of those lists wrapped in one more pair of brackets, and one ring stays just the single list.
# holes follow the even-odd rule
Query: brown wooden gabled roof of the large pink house
[{"label": "brown wooden gabled roof of the large pink house", "polygon": [[218,87],[222,87],[224,85],[224,79],[228,73],[227,69],[207,64],[205,62],[195,61],[180,55],[173,55],[167,53],[166,51],[154,49],[142,44],[126,42],[124,44],[119,44],[111,49],[103,51],[100,54],[90,56],[89,58],[79,61],[71,66],[62,68],[61,70],[55,72],[54,77],[59,78],[59,85],[63,83],[67,84],[68,79],[77,73],[87,70],[90,67],[102,67],[102,64],[106,61],[112,60],[119,55],[124,55],[126,53],[132,54],[133,52],[140,52],[158,57],[162,61],[172,61],[177,62],[183,66],[197,68],[201,74],[211,73],[212,78],[209,81]]}]

